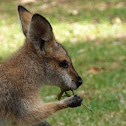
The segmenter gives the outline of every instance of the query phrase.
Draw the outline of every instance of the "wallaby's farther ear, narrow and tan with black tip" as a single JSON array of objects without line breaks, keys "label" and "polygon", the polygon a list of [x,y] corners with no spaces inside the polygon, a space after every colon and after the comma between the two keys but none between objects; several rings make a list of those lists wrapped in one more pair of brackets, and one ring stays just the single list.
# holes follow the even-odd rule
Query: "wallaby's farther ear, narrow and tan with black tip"
[{"label": "wallaby's farther ear, narrow and tan with black tip", "polygon": [[25,36],[27,36],[28,26],[30,24],[33,14],[30,13],[23,6],[18,6],[18,13],[19,13],[23,33]]}]

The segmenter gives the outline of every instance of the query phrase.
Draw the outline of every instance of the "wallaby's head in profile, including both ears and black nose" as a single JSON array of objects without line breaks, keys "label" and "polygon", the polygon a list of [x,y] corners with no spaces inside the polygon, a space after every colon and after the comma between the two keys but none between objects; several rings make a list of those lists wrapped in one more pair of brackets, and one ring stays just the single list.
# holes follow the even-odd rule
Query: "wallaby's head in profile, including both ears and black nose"
[{"label": "wallaby's head in profile, including both ears and black nose", "polygon": [[26,42],[31,43],[33,51],[36,51],[39,66],[44,65],[46,84],[66,90],[77,89],[82,79],[66,50],[55,40],[50,23],[43,16],[32,14],[22,6],[18,7],[18,11]]}]

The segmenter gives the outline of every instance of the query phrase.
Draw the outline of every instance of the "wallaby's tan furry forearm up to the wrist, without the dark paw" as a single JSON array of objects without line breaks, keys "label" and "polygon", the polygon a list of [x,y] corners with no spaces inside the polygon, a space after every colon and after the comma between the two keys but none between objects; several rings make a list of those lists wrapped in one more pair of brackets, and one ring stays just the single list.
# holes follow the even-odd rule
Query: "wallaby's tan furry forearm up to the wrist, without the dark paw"
[{"label": "wallaby's tan furry forearm up to the wrist, without the dark paw", "polygon": [[25,112],[25,114],[19,118],[19,121],[23,126],[34,125],[41,122],[58,110],[62,110],[67,107],[67,104],[62,101],[42,104],[37,108],[27,110],[27,112]]}]

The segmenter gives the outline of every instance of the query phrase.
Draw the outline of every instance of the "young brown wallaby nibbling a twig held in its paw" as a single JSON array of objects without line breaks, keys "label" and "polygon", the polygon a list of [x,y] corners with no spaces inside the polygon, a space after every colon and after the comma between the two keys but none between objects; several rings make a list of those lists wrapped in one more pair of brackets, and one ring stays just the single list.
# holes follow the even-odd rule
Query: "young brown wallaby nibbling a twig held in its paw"
[{"label": "young brown wallaby nibbling a twig held in its paw", "polygon": [[50,126],[43,120],[58,110],[80,106],[82,98],[43,103],[41,86],[76,90],[82,79],[55,40],[50,23],[22,6],[18,12],[26,39],[18,52],[0,63],[0,126]]}]

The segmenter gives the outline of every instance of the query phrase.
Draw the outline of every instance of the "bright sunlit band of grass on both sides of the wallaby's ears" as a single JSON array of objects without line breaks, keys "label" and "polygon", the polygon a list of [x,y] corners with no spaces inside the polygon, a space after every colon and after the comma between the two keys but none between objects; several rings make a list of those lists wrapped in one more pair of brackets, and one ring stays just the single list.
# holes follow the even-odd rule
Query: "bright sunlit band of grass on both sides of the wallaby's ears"
[{"label": "bright sunlit band of grass on both sides of the wallaby's ears", "polygon": [[[52,24],[56,39],[60,43],[78,43],[96,40],[97,43],[105,39],[126,38],[126,24],[115,22],[91,24],[84,22],[80,23],[57,23]],[[57,34],[58,33],[58,34]],[[21,31],[20,23],[6,25],[3,21],[0,31],[0,55],[11,55],[24,42],[24,35]],[[4,37],[6,36],[6,37]],[[6,54],[7,53],[7,54]]]}]

